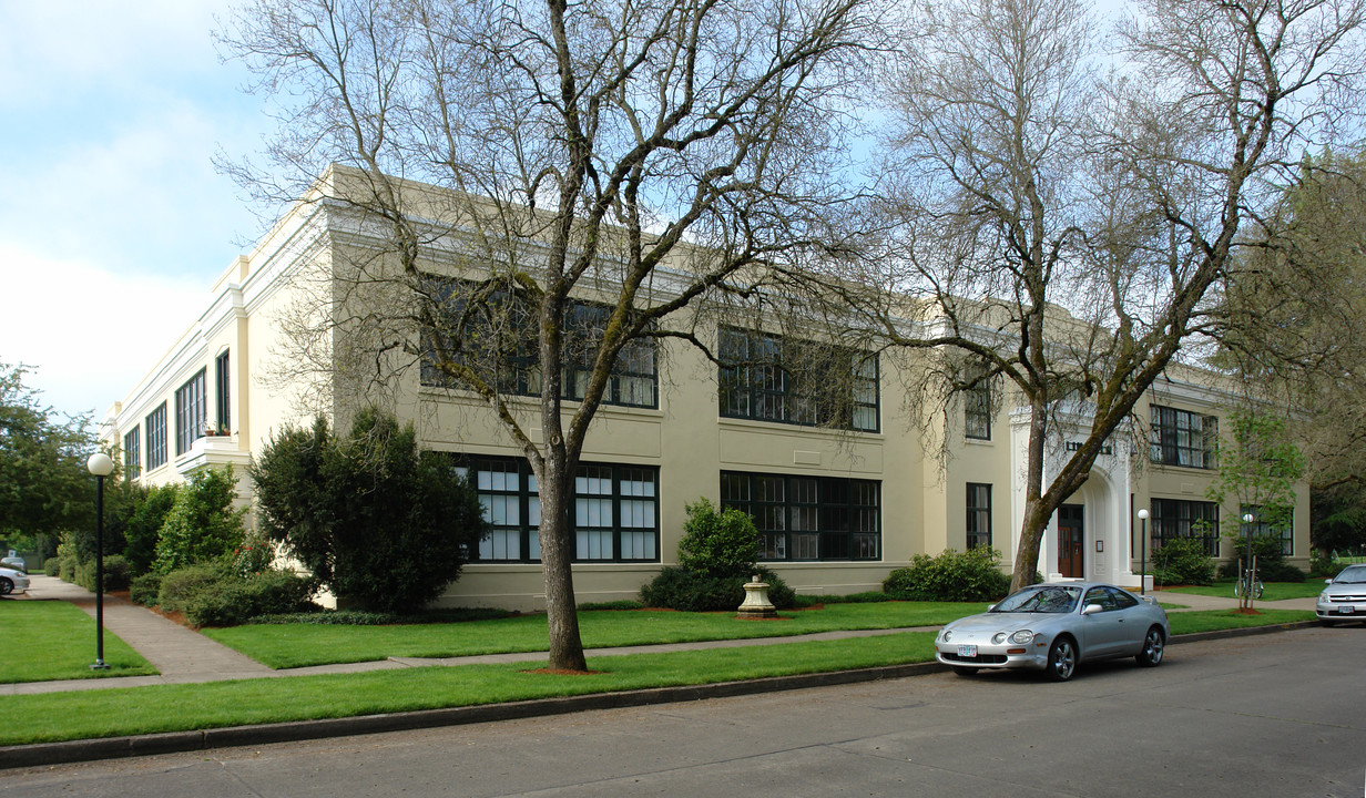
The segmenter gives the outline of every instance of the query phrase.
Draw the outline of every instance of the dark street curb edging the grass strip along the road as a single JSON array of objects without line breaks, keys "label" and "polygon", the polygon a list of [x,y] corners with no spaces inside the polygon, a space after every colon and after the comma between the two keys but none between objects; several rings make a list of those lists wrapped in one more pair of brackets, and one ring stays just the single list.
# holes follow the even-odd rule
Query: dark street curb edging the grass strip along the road
[{"label": "dark street curb edging the grass strip along the road", "polygon": [[[1318,626],[1315,620],[1299,620],[1273,626],[1253,626],[1246,629],[1223,629],[1172,637],[1171,645],[1272,634]],[[497,720],[518,720],[525,717],[545,717],[587,712],[593,709],[619,709],[627,706],[649,706],[703,698],[728,698],[735,696],[755,696],[807,687],[828,687],[900,679],[947,671],[938,663],[910,663],[835,671],[829,674],[800,674],[794,676],[769,676],[743,682],[719,682],[714,685],[687,685],[680,687],[650,687],[646,690],[626,690],[620,693],[594,693],[590,696],[570,696],[540,698],[535,701],[514,701],[510,704],[481,704],[475,706],[451,706],[445,709],[422,709],[415,712],[392,712],[385,715],[362,715],[357,717],[331,717],[321,720],[298,720],[288,723],[266,723],[257,726],[232,726],[227,728],[205,728],[197,731],[169,731],[128,737],[97,739],[74,739],[64,742],[40,742],[33,745],[0,746],[0,769],[31,768],[143,757],[208,750],[216,747],[239,747],[277,742],[299,742],[358,734],[380,734],[387,731],[410,731],[443,726],[466,726]]]}]

